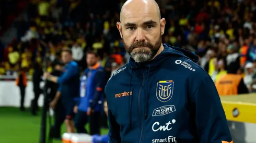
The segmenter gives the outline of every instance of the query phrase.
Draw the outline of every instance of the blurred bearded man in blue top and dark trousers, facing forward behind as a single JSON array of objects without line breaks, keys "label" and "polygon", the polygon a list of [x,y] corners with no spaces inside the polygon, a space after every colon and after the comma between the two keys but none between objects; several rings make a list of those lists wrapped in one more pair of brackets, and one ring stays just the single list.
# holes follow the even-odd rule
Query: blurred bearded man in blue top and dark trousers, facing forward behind
[{"label": "blurred bearded man in blue top and dark trousers, facing forward behind", "polygon": [[81,77],[80,100],[78,106],[74,108],[74,112],[76,112],[75,127],[78,133],[87,133],[85,124],[89,116],[90,134],[100,134],[99,122],[103,109],[105,73],[97,61],[97,54],[88,51],[86,55],[88,68]]}]

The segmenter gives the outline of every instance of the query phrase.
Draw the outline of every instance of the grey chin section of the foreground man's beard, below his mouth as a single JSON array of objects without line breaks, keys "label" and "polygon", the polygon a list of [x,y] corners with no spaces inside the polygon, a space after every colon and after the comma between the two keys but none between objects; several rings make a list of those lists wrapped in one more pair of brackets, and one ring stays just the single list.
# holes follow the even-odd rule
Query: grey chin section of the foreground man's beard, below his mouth
[{"label": "grey chin section of the foreground man's beard, below his mouth", "polygon": [[132,52],[130,56],[136,61],[136,62],[145,62],[149,61],[153,58],[152,51],[150,53],[145,53],[145,49],[138,49],[136,52]]}]

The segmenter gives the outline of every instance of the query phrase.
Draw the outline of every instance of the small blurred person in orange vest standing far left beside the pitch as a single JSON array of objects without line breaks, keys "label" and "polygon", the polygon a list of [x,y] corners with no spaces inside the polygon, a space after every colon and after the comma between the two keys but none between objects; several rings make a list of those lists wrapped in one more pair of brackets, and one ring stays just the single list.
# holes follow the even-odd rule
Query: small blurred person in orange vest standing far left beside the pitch
[{"label": "small blurred person in orange vest standing far left beside the pitch", "polygon": [[20,89],[20,111],[25,111],[25,107],[24,107],[25,94],[26,94],[25,90],[28,82],[26,76],[27,76],[26,69],[21,68],[16,79],[16,85]]}]

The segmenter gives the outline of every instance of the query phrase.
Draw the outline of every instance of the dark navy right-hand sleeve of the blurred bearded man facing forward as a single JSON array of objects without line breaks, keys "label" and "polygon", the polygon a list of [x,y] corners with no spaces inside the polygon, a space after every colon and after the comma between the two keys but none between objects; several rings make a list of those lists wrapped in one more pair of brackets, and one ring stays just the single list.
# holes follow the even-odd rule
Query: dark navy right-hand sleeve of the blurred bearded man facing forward
[{"label": "dark navy right-hand sleeve of the blurred bearded man facing forward", "polygon": [[100,100],[104,92],[105,77],[104,77],[103,71],[96,72],[94,82],[96,83],[96,85],[95,85],[95,89],[93,89],[95,90],[95,92],[90,104],[91,109],[94,109],[97,106],[98,101]]}]

